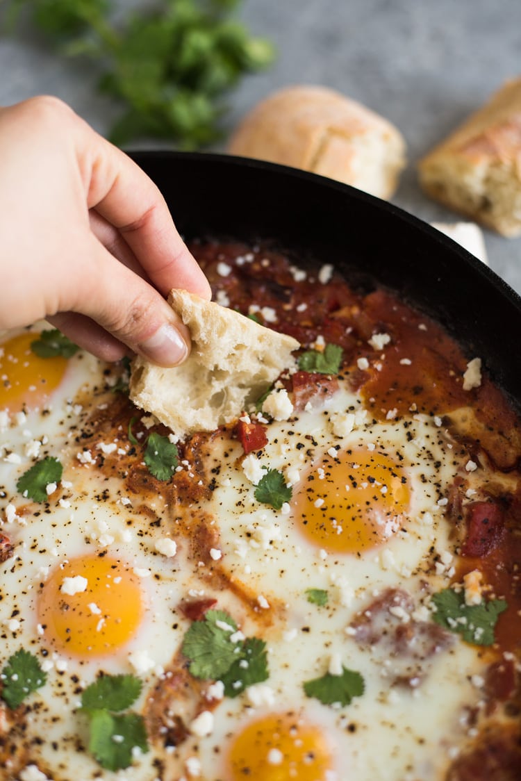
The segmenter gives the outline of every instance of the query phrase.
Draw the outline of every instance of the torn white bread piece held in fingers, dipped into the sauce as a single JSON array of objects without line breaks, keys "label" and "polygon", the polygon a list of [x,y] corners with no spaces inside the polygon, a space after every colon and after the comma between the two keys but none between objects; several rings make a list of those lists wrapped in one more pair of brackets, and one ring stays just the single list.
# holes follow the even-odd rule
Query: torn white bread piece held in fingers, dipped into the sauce
[{"label": "torn white bread piece held in fingers, dipped into the sauce", "polygon": [[190,330],[191,354],[172,369],[135,358],[130,398],[180,439],[230,423],[294,366],[293,337],[187,291],[168,301]]}]

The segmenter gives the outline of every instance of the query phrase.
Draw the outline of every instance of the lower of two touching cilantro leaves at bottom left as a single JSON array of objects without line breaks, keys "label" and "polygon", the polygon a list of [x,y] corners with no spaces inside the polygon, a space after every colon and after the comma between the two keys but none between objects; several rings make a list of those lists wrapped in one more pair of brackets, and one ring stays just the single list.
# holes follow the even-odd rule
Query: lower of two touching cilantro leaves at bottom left
[{"label": "lower of two touching cilantro leaves at bottom left", "polygon": [[112,715],[93,711],[90,719],[88,750],[106,770],[120,770],[132,764],[134,747],[148,751],[145,722],[137,713]]}]

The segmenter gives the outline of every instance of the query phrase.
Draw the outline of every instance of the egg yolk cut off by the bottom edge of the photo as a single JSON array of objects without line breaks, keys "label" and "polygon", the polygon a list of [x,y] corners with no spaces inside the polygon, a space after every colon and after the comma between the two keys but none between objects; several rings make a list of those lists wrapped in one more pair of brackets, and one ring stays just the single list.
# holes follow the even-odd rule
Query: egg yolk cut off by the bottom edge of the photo
[{"label": "egg yolk cut off by the bottom edge of the photo", "polygon": [[327,781],[333,756],[318,726],[292,715],[269,714],[241,730],[227,763],[229,781]]}]

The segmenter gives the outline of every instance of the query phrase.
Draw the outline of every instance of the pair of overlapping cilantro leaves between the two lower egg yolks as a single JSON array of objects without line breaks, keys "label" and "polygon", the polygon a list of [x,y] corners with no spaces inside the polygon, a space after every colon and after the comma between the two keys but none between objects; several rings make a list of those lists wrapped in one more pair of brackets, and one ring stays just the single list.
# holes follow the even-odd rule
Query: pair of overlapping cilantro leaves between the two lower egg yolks
[{"label": "pair of overlapping cilantro leaves between the two lower egg yolks", "polygon": [[227,697],[237,697],[269,675],[264,640],[247,637],[234,642],[231,635],[235,631],[237,624],[228,613],[209,610],[204,619],[192,623],[181,647],[191,662],[191,674],[195,678],[222,680]]}]

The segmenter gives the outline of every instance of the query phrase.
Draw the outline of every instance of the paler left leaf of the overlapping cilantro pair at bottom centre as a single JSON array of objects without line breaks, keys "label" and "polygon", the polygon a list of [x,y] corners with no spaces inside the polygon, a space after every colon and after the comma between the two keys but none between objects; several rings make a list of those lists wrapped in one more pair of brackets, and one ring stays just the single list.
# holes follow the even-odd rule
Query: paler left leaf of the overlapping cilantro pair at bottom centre
[{"label": "paler left leaf of the overlapping cilantro pair at bottom centre", "polygon": [[[224,622],[231,630],[217,626]],[[241,652],[241,644],[232,643],[230,635],[237,624],[223,610],[209,610],[202,621],[194,621],[184,635],[181,651],[190,660],[190,672],[195,678],[220,679]]]}]

